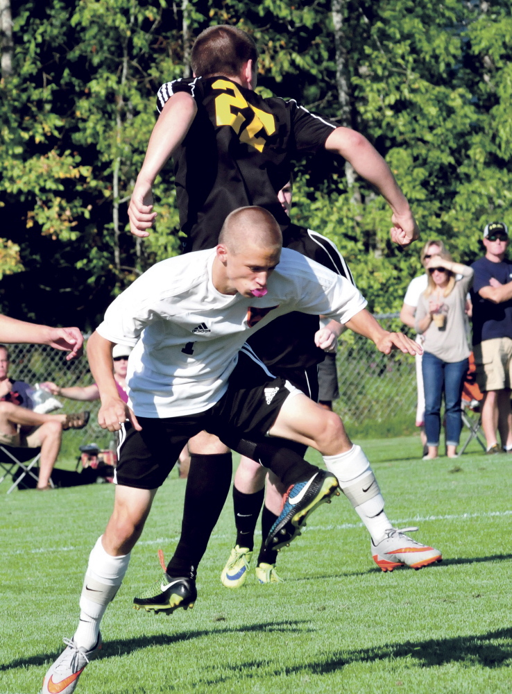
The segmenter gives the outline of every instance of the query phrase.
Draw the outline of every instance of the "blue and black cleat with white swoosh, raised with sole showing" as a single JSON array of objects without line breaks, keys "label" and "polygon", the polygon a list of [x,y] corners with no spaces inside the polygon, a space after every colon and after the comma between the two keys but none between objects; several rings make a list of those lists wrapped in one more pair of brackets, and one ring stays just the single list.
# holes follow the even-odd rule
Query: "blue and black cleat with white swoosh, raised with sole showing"
[{"label": "blue and black cleat with white swoosh, raised with sole showing", "polygon": [[309,514],[323,503],[330,503],[332,496],[339,496],[338,480],[327,471],[318,470],[305,482],[292,484],[283,498],[280,516],[271,527],[265,541],[273,550],[287,546],[300,535],[300,528]]}]

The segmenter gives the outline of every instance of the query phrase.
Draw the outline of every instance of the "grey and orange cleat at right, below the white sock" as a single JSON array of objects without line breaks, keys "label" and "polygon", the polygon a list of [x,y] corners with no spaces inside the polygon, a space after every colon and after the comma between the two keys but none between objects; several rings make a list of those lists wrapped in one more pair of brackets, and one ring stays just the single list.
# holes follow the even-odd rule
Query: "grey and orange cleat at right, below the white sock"
[{"label": "grey and orange cleat at right, below the white sock", "polygon": [[411,568],[423,568],[434,561],[442,561],[443,555],[428,545],[422,545],[408,537],[406,532],[415,532],[417,527],[405,527],[397,530],[390,527],[386,530],[386,536],[377,545],[371,541],[373,561],[383,571],[393,571],[398,566],[410,566]]}]

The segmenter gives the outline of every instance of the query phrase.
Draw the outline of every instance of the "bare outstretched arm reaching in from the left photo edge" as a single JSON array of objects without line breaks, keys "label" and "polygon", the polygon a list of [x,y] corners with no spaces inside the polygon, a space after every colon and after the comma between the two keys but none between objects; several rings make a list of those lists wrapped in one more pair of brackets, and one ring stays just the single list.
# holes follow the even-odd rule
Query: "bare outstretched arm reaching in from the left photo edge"
[{"label": "bare outstretched arm reaching in from the left photo edge", "polygon": [[69,361],[82,354],[83,335],[78,328],[50,328],[49,325],[35,325],[0,316],[0,341],[9,344],[28,342],[49,345],[69,352],[66,357]]}]

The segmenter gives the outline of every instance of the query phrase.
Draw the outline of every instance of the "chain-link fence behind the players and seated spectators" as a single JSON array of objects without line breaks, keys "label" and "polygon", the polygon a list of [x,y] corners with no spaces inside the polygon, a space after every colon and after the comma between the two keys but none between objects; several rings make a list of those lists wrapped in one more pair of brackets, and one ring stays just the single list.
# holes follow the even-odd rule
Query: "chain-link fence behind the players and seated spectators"
[{"label": "chain-link fence behind the players and seated spectators", "polygon": [[[403,330],[398,314],[376,316],[386,330]],[[42,345],[9,345],[10,378],[31,385],[53,381],[60,387],[87,386],[93,378],[86,357],[67,362],[62,352]],[[336,411],[347,424],[364,421],[383,422],[403,415],[413,417],[416,411],[416,376],[414,359],[401,352],[384,355],[372,342],[349,330],[341,336],[338,350],[340,399]],[[79,412],[88,409],[91,417],[82,430],[69,430],[62,439],[68,455],[78,455],[78,446],[97,443],[100,448],[113,446],[112,434],[98,425],[99,401],[84,403],[58,397],[62,409],[56,412]]]}]

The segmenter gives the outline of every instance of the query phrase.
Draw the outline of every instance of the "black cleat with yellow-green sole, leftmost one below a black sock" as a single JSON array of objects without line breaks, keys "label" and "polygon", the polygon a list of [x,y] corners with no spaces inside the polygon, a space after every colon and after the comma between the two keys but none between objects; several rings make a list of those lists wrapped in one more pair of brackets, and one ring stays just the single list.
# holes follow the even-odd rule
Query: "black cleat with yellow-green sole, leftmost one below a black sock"
[{"label": "black cleat with yellow-green sole, leftmost one below a black sock", "polygon": [[164,575],[151,588],[133,598],[134,609],[145,609],[146,612],[172,614],[179,607],[189,609],[197,600],[196,582],[191,576],[172,577],[167,574],[164,564],[164,553],[158,550],[160,565]]}]

